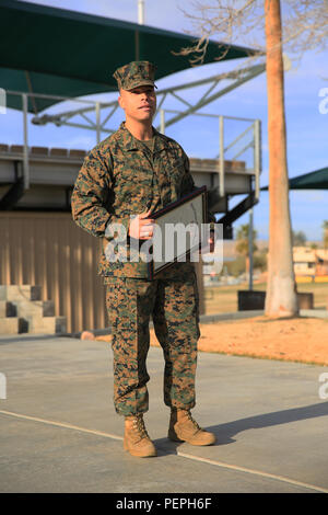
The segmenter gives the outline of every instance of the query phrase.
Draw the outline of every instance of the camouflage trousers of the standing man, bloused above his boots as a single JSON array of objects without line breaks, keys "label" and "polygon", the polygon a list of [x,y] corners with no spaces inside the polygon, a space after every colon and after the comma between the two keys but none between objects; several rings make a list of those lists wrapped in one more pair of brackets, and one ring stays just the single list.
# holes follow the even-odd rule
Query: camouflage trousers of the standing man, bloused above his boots
[{"label": "camouflage trousers of the standing man, bloused above his boots", "polygon": [[186,410],[194,408],[200,335],[195,272],[187,278],[109,281],[106,306],[113,330],[116,412],[126,416],[149,409],[147,355],[151,318],[164,354],[164,402]]}]

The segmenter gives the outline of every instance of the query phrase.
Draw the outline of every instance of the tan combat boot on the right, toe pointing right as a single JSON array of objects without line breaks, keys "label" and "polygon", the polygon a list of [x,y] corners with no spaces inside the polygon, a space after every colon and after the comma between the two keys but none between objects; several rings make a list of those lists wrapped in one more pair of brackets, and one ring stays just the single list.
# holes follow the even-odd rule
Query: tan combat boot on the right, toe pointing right
[{"label": "tan combat boot on the right, toe pointing right", "polygon": [[188,442],[191,445],[212,445],[216,440],[213,433],[199,427],[189,410],[171,411],[167,436],[173,442]]}]

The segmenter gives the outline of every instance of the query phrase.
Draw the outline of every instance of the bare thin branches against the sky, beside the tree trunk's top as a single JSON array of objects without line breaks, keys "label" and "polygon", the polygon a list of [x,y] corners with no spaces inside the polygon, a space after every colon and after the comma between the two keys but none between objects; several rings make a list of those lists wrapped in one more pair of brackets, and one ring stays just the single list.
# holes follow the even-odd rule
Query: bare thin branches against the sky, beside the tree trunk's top
[{"label": "bare thin branches against the sky, beside the tree trunk's top", "polygon": [[[195,45],[177,53],[190,56],[191,66],[203,64],[210,38],[218,41],[218,60],[226,56],[225,45],[239,44],[260,50],[266,47],[261,0],[198,0],[190,3],[190,11],[180,10],[199,34]],[[327,49],[328,0],[284,0],[282,11],[282,46],[291,60],[300,60],[306,50]]]}]

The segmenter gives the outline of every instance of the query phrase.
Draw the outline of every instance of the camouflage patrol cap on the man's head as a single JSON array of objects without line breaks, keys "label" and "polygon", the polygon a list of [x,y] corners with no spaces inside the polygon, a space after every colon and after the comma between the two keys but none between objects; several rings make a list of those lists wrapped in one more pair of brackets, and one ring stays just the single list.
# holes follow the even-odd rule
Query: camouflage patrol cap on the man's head
[{"label": "camouflage patrol cap on the man's head", "polygon": [[132,90],[138,85],[153,85],[156,67],[148,60],[138,60],[118,68],[113,77],[117,80],[118,89]]}]

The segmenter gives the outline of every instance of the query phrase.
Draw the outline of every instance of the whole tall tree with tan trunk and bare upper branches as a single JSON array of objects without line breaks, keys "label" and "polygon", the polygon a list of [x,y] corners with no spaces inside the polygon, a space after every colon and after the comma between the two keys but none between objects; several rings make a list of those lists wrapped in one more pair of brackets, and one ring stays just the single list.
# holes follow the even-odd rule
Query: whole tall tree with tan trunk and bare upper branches
[{"label": "whole tall tree with tan trunk and bare upper branches", "polygon": [[[292,230],[289,205],[286,163],[286,131],[282,45],[294,57],[308,50],[328,47],[328,3],[326,0],[291,0],[285,2],[285,22],[282,43],[280,0],[198,0],[197,14],[191,15],[200,28],[197,44],[183,48],[181,55],[194,54],[191,62],[203,61],[210,35],[219,41],[261,34],[267,64],[268,131],[269,131],[269,198],[270,240],[268,254],[268,289],[266,314],[269,317],[298,313],[296,283],[293,270]],[[219,44],[220,48],[220,44]],[[225,53],[222,53],[224,56]],[[219,57],[218,59],[220,60]]]}]

